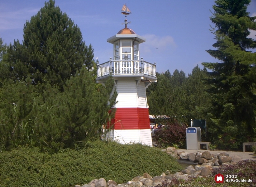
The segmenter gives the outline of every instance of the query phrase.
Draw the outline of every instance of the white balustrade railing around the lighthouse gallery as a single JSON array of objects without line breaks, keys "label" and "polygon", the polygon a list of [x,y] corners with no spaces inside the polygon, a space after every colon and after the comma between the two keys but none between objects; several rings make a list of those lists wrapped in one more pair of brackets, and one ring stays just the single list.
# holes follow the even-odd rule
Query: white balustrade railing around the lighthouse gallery
[{"label": "white balustrade railing around the lighthouse gallery", "polygon": [[156,77],[156,63],[145,62],[143,58],[140,61],[112,61],[110,58],[103,64],[97,63],[97,78],[110,74],[141,74]]}]

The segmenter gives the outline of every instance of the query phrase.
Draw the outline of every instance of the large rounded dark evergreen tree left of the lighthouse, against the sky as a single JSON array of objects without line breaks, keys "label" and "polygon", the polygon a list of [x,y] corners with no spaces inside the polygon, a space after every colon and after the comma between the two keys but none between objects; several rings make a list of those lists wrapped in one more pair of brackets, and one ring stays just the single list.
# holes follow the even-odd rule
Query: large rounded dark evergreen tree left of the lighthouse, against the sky
[{"label": "large rounded dark evergreen tree left of the lighthouse, against the sky", "polygon": [[23,36],[22,44],[14,41],[9,50],[15,80],[30,78],[35,85],[50,82],[62,89],[83,65],[93,66],[92,46],[85,45],[80,29],[53,0],[26,22]]}]

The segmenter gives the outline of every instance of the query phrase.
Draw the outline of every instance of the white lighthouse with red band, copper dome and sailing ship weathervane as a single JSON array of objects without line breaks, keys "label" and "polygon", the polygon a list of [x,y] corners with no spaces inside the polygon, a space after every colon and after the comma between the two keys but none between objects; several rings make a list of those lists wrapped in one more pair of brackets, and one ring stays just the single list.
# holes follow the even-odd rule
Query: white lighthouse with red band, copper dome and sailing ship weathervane
[{"label": "white lighthouse with red band, copper dome and sailing ship weathervane", "polygon": [[[126,5],[122,14],[130,14]],[[104,84],[111,75],[118,93],[112,126],[105,136],[120,143],[152,146],[146,88],[157,81],[156,63],[140,57],[140,44],[146,40],[127,28],[128,23],[125,19],[125,28],[107,39],[113,44],[113,58],[97,64],[96,81]]]}]

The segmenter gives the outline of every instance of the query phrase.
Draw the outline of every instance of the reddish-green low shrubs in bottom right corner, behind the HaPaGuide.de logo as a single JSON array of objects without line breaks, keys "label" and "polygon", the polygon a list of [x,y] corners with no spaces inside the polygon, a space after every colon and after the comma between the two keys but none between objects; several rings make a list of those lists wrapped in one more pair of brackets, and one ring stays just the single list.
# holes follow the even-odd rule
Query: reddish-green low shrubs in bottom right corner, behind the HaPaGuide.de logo
[{"label": "reddish-green low shrubs in bottom right corner, behind the HaPaGuide.de logo", "polygon": [[[217,184],[214,181],[216,174],[221,173],[224,175],[237,175],[237,179],[251,179],[252,182],[225,182]],[[177,180],[173,179],[169,183],[163,184],[163,187],[174,187],[174,186],[197,186],[197,187],[247,187],[247,186],[256,186],[256,160],[242,160],[235,165],[230,165],[225,169],[219,168],[214,169],[212,174],[207,177],[190,177],[189,180]]]}]

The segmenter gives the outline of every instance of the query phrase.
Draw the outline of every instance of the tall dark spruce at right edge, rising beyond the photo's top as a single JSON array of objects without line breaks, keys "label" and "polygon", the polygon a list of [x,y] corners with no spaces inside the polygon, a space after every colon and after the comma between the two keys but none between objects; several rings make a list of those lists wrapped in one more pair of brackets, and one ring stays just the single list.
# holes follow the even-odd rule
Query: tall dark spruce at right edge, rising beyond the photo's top
[{"label": "tall dark spruce at right edge, rising beyond the photo's top", "polygon": [[208,91],[212,107],[208,126],[212,141],[219,148],[241,148],[242,142],[255,138],[256,79],[251,77],[255,54],[250,50],[256,47],[256,41],[248,35],[249,29],[256,29],[256,17],[246,12],[250,0],[216,0],[215,3],[210,19],[216,26],[213,47],[217,49],[207,52],[222,62],[203,63],[211,70],[208,83],[212,87]]}]

